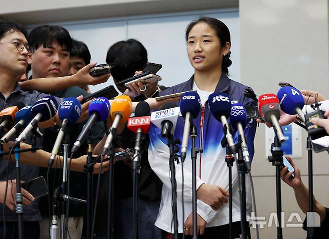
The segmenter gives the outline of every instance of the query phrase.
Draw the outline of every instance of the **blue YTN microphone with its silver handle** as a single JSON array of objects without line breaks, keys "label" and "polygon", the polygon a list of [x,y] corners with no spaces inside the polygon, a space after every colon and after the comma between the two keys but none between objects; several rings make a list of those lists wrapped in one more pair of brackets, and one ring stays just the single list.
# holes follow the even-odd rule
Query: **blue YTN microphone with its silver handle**
[{"label": "blue YTN microphone with its silver handle", "polygon": [[79,134],[75,143],[73,144],[71,149],[71,154],[75,153],[79,149],[85,138],[88,136],[89,131],[91,130],[93,124],[95,122],[105,120],[108,117],[108,113],[109,113],[109,102],[107,98],[98,97],[90,102],[88,108],[89,119],[84,124],[81,133]]}]

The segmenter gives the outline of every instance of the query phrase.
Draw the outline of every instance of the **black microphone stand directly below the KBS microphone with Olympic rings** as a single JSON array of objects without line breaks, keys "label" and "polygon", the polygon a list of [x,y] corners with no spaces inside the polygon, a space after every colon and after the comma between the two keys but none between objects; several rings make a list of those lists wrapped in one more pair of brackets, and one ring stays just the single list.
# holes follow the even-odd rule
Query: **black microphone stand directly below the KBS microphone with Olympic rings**
[{"label": "black microphone stand directly below the KBS microphone with Olympic rings", "polygon": [[247,238],[247,234],[245,231],[246,226],[246,194],[245,194],[245,174],[248,173],[246,166],[244,164],[242,149],[241,149],[241,136],[238,136],[238,142],[235,145],[235,149],[237,150],[236,163],[241,175],[241,229],[242,229],[242,239]]}]

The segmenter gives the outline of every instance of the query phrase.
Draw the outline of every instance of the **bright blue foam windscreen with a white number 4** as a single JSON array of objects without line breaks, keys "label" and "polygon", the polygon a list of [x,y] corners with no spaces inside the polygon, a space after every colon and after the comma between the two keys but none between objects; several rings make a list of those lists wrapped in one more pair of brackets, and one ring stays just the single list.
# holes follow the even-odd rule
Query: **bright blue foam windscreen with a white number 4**
[{"label": "bright blue foam windscreen with a white number 4", "polygon": [[291,86],[284,86],[277,92],[281,110],[289,115],[296,114],[296,108],[304,107],[304,98],[299,90]]}]

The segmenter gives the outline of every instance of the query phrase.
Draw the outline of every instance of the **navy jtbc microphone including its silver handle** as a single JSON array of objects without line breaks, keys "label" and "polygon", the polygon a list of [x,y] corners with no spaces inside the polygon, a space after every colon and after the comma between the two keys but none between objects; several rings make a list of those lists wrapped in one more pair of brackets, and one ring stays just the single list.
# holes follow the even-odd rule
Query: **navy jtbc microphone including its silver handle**
[{"label": "navy jtbc microphone including its silver handle", "polygon": [[227,123],[227,118],[230,116],[232,106],[228,95],[226,95],[225,93],[214,92],[209,95],[208,103],[210,112],[213,117],[216,120],[220,121],[223,127],[226,125],[227,130],[225,133],[225,138],[230,152],[235,153],[233,137],[229,130],[229,125]]}]

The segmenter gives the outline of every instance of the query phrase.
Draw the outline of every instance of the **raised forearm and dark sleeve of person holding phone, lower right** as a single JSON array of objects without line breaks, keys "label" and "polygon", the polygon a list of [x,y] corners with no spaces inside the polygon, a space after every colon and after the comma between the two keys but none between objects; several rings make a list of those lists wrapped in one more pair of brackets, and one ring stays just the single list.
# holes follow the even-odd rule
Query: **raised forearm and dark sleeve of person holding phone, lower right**
[{"label": "raised forearm and dark sleeve of person holding phone, lower right", "polygon": [[[300,170],[296,164],[291,160],[290,157],[285,157],[291,166],[294,168],[294,172],[288,172],[288,167],[281,167],[280,176],[282,181],[293,188],[296,201],[299,208],[306,214],[308,211],[308,189],[302,183],[300,177]],[[294,178],[290,176],[294,173]],[[313,239],[326,238],[329,233],[329,208],[324,207],[320,202],[318,202],[313,196],[313,211],[318,213],[320,216],[321,225],[320,227],[313,227]],[[306,218],[303,223],[303,229],[306,230]]]}]

